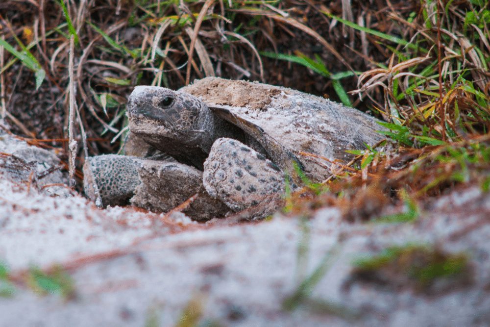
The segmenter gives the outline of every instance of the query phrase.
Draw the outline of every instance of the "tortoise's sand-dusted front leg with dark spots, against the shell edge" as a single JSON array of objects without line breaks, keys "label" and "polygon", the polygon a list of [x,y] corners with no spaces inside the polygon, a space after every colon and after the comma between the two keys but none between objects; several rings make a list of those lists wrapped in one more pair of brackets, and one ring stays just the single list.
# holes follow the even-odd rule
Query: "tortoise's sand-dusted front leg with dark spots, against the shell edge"
[{"label": "tortoise's sand-dusted front leg with dark spots, against the shell edge", "polygon": [[204,162],[206,191],[233,211],[249,209],[253,218],[270,215],[280,207],[284,177],[264,155],[229,138],[216,140]]}]

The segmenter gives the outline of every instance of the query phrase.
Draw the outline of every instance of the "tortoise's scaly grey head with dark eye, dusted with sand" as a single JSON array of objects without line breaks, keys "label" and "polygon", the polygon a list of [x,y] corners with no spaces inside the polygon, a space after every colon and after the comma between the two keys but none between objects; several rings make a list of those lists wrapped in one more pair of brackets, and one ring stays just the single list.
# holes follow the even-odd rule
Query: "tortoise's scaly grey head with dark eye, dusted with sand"
[{"label": "tortoise's scaly grey head with dark eye, dusted with sand", "polygon": [[158,148],[183,144],[206,151],[213,114],[196,97],[158,86],[137,86],[128,99],[129,129]]}]

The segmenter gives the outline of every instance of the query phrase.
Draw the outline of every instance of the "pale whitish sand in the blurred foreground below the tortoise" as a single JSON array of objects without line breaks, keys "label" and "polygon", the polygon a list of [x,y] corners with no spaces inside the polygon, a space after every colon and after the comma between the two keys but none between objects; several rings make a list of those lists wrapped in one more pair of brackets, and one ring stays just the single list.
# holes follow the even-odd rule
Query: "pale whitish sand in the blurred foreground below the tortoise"
[{"label": "pale whitish sand in the blurred foreground below the tortoise", "polygon": [[[490,325],[490,195],[476,187],[441,197],[414,223],[351,224],[326,208],[306,225],[277,214],[222,226],[102,210],[79,195],[53,197],[7,177],[0,177],[0,260],[15,293],[0,298],[0,326],[144,326],[151,319],[150,326],[174,326],[189,303],[202,312],[199,326]],[[464,252],[471,269],[423,290],[396,272],[377,281],[354,274],[354,259],[407,244]],[[299,245],[307,251],[298,261]],[[53,264],[72,276],[72,300],[40,296],[25,283],[29,267]],[[330,304],[285,310],[284,299],[321,264],[310,298]]]}]

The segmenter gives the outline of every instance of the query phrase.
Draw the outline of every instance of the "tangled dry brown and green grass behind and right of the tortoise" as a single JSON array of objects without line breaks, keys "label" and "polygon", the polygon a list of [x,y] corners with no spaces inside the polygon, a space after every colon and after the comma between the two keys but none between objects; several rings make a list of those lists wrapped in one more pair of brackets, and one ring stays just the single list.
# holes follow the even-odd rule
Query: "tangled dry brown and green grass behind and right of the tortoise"
[{"label": "tangled dry brown and green grass behind and right of the tortoise", "polygon": [[[6,0],[0,115],[79,168],[118,151],[135,85],[217,75],[299,89],[391,131],[286,210],[411,220],[447,190],[489,190],[489,22],[486,0]],[[405,206],[379,217],[388,203]]]}]

